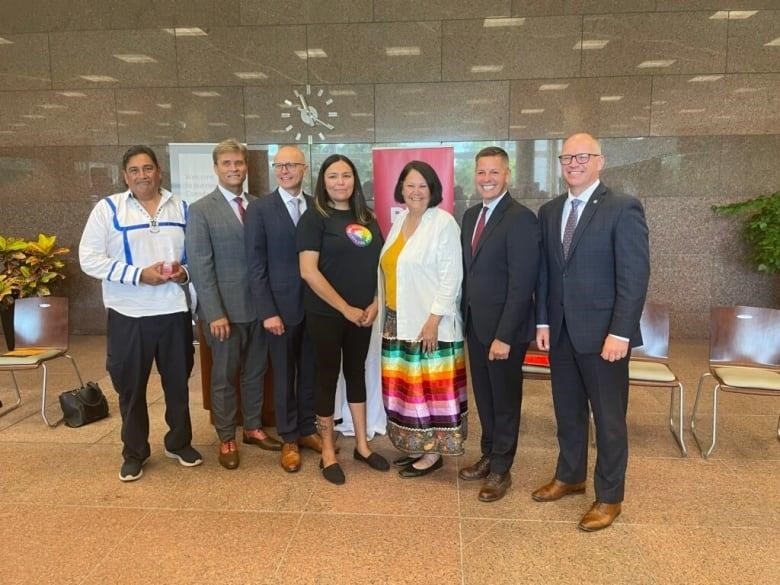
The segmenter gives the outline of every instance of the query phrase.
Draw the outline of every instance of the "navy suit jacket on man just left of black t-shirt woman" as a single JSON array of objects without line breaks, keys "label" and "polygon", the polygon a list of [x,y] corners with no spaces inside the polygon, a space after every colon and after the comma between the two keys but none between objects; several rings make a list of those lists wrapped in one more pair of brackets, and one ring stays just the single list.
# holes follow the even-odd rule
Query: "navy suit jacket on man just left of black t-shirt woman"
[{"label": "navy suit jacket on man just left of black t-shirt woman", "polygon": [[[307,209],[314,200],[304,194]],[[279,190],[253,201],[245,218],[249,286],[257,317],[279,315],[285,325],[303,321],[304,283],[298,266],[296,226]]]}]

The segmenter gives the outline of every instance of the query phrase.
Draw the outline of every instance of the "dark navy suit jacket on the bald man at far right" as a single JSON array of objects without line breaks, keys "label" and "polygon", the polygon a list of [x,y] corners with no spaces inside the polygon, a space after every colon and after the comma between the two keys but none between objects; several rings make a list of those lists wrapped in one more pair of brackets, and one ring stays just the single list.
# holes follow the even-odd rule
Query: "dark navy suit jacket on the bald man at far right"
[{"label": "dark navy suit jacket on the bald man at far right", "polygon": [[644,209],[638,199],[599,184],[580,214],[569,258],[563,258],[561,218],[567,194],[539,210],[542,264],[537,323],[555,344],[566,320],[574,349],[599,353],[608,333],[642,344],[639,319],[650,280]]}]

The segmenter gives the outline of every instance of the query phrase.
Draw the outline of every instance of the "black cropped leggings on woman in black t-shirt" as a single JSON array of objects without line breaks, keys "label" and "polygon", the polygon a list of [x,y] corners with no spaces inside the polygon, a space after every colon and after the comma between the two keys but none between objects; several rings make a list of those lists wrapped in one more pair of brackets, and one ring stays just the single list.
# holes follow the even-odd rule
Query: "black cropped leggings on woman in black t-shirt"
[{"label": "black cropped leggings on woman in black t-shirt", "polygon": [[365,402],[366,355],[371,327],[358,327],[341,315],[306,313],[306,328],[314,345],[314,411],[317,416],[333,416],[342,356],[347,402]]}]

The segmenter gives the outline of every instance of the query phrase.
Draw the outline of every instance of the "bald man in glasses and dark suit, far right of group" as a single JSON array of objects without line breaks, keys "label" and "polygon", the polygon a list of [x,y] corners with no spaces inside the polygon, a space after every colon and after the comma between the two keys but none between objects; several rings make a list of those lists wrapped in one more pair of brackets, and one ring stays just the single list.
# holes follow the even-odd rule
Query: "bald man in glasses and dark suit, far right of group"
[{"label": "bald man in glasses and dark suit, far right of group", "polygon": [[539,211],[542,263],[536,342],[550,351],[558,423],[553,480],[538,502],[583,493],[588,403],[596,424],[596,501],[579,528],[610,526],[620,514],[628,463],[626,409],[630,347],[642,344],[639,319],[650,279],[642,204],[599,181],[604,156],[589,134],[575,134],[558,157],[568,193]]}]

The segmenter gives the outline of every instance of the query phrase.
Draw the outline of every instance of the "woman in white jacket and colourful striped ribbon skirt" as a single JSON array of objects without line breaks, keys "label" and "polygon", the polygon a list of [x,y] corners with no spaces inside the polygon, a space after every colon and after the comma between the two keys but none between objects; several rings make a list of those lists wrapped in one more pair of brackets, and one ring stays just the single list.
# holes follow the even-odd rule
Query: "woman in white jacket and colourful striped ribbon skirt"
[{"label": "woman in white jacket and colourful striped ribbon skirt", "polygon": [[382,398],[387,434],[404,453],[393,464],[419,477],[441,468],[442,455],[461,455],[466,438],[460,230],[437,207],[441,181],[425,162],[404,167],[395,200],[406,210],[380,255]]}]

